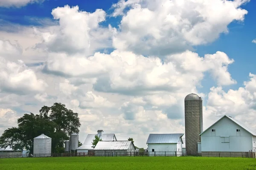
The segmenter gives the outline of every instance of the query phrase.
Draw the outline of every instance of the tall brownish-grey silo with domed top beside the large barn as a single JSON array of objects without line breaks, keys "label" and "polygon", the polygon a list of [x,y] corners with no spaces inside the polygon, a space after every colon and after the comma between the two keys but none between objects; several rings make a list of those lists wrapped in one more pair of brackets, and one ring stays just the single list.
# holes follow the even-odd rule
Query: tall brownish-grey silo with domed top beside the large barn
[{"label": "tall brownish-grey silo with domed top beside the large barn", "polygon": [[201,142],[199,134],[203,131],[203,100],[197,94],[188,94],[184,102],[186,153],[195,156]]}]

